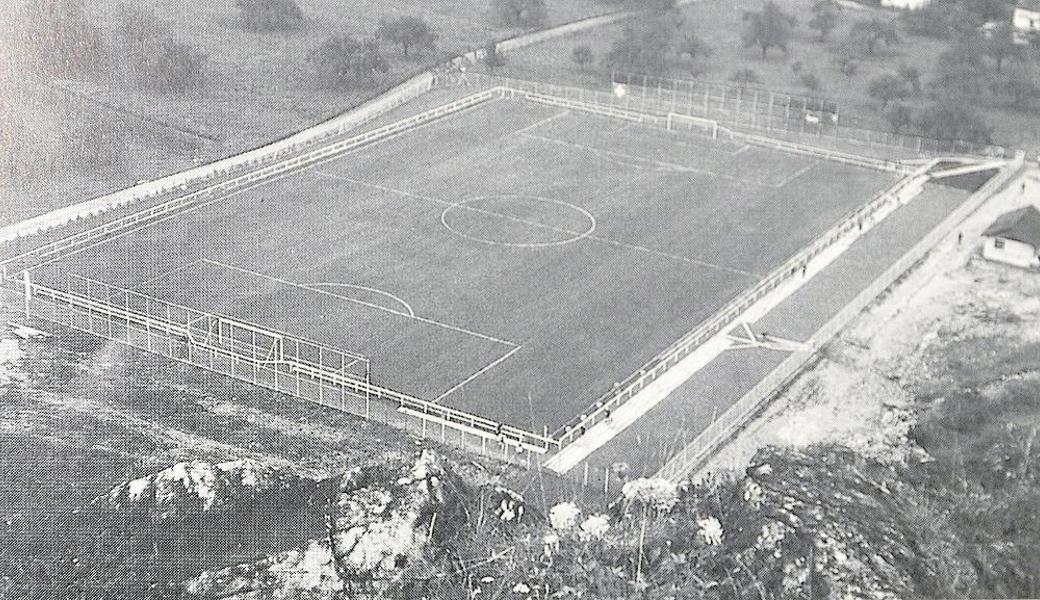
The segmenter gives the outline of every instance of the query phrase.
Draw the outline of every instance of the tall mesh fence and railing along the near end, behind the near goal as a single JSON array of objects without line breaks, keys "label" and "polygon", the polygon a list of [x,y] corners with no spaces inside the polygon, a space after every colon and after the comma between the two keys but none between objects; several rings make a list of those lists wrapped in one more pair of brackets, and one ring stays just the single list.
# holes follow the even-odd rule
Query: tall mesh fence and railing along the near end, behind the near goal
[{"label": "tall mesh fence and railing along the near end, behind the near goal", "polygon": [[554,446],[518,427],[374,384],[363,355],[53,270],[48,277],[23,271],[18,285],[9,282],[0,293],[11,306],[20,302],[27,316],[485,454],[513,461],[520,454],[529,462],[532,452]]}]

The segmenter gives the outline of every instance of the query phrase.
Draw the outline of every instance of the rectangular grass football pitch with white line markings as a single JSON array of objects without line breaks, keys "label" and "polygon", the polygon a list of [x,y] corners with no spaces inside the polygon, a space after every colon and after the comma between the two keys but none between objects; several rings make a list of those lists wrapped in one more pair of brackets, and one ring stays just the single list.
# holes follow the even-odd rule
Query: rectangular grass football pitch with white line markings
[{"label": "rectangular grass football pitch with white line markings", "polygon": [[552,432],[895,179],[498,100],[59,266]]}]

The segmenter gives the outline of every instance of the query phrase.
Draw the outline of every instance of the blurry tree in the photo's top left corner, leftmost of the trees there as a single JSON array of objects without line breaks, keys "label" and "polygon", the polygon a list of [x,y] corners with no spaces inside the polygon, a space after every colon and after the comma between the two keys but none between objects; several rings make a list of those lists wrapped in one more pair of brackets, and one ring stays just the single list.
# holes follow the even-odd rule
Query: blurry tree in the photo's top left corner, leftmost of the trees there
[{"label": "blurry tree in the photo's top left corner, leftmost of the trees there", "polygon": [[26,5],[25,46],[36,69],[55,77],[80,77],[101,67],[101,29],[80,0],[35,0]]}]

